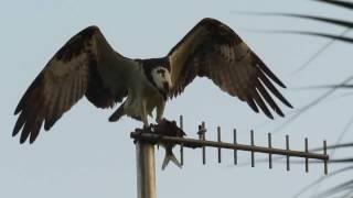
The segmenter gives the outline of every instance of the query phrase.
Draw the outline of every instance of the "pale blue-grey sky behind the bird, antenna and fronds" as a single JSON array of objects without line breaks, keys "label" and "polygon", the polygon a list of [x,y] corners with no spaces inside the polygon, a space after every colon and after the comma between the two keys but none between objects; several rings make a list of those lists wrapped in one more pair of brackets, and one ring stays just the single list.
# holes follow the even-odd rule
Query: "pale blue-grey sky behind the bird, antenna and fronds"
[{"label": "pale blue-grey sky behind the bird, antenna and fronds", "polygon": [[[131,58],[160,57],[179,42],[203,18],[215,18],[231,26],[289,87],[281,92],[296,107],[281,106],[290,116],[320,96],[323,90],[299,90],[298,87],[334,84],[350,76],[352,45],[335,42],[309,67],[292,74],[328,41],[303,35],[261,34],[249,30],[307,30],[340,33],[343,29],[328,24],[280,16],[254,16],[236,11],[291,12],[352,19],[349,11],[309,0],[179,0],[179,1],[3,1],[0,7],[0,197],[136,197],[135,145],[129,133],[141,123],[124,118],[109,123],[111,109],[96,109],[82,99],[56,122],[50,132],[42,131],[32,145],[19,144],[11,138],[17,120],[14,108],[25,89],[54,53],[74,34],[88,25],[97,25],[115,50]],[[352,35],[353,33],[350,33]],[[335,143],[350,120],[347,99],[342,92],[306,112],[285,129],[274,133],[274,146],[285,147],[290,135],[293,150]],[[249,130],[255,143],[266,145],[266,135],[287,120],[267,119],[244,102],[222,92],[210,80],[200,78],[184,94],[170,101],[165,118],[184,116],[189,136],[196,136],[197,125],[206,122],[207,139],[216,140],[216,127],[223,140],[232,141],[238,130],[239,143],[249,144]],[[344,141],[352,140],[352,133]],[[176,151],[174,151],[176,153]],[[338,153],[336,156],[343,155]],[[156,153],[158,197],[291,197],[323,175],[323,166],[292,165],[286,172],[282,163],[234,166],[232,152],[223,152],[217,164],[216,150],[207,150],[207,164],[202,165],[201,151],[185,151],[182,169],[173,164],[161,170],[164,152]],[[240,152],[238,161],[249,162],[249,153]],[[256,158],[265,155],[256,154]],[[329,167],[333,170],[336,167]],[[344,176],[327,182],[320,189],[344,180]],[[320,190],[319,189],[319,190]],[[312,193],[302,197],[310,197]]]}]

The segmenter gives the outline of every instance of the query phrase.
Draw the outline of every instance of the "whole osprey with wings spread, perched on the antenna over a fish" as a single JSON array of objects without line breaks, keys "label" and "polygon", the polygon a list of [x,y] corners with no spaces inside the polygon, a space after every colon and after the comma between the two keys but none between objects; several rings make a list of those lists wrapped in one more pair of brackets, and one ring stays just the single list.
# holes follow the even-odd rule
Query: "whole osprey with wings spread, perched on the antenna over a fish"
[{"label": "whole osprey with wings spread, perched on the antenna over a fish", "polygon": [[[284,117],[270,94],[292,107],[274,86],[286,86],[227,25],[214,20],[200,21],[164,57],[131,59],[114,51],[97,26],[73,36],[46,64],[15,108],[20,113],[13,134],[20,143],[33,143],[44,130],[68,111],[81,98],[97,108],[113,108],[109,118],[122,116],[147,127],[156,109],[156,121],[163,118],[165,102],[176,97],[199,77],[207,77],[223,91],[259,109]],[[271,111],[270,111],[271,110]]]}]

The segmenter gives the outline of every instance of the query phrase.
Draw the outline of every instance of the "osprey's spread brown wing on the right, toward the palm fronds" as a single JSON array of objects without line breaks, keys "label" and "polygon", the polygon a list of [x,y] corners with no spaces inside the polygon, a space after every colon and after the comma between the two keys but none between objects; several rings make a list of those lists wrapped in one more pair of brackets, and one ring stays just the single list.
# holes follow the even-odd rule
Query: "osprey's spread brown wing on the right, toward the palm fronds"
[{"label": "osprey's spread brown wing on the right, toward the palm fronds", "polygon": [[168,56],[173,84],[171,97],[180,95],[196,76],[205,76],[231,96],[246,101],[254,111],[260,108],[269,118],[274,117],[268,105],[284,117],[269,91],[292,107],[272,82],[286,86],[231,28],[217,20],[203,19]]}]

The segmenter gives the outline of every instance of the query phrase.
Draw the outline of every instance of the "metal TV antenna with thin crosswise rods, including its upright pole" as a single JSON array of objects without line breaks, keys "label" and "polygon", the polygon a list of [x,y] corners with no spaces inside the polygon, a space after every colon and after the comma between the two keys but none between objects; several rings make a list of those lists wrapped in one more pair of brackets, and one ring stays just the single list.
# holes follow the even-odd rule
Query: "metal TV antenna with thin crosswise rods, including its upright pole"
[{"label": "metal TV antenna with thin crosswise rods, including its upright pole", "polygon": [[[183,130],[183,117],[180,116],[180,129]],[[222,163],[222,150],[233,150],[234,164],[237,165],[238,151],[250,153],[252,167],[255,167],[255,153],[268,154],[268,167],[272,168],[272,155],[281,155],[286,157],[286,169],[290,170],[290,157],[304,158],[306,172],[309,172],[309,160],[319,160],[323,162],[323,172],[328,174],[329,155],[327,152],[327,141],[323,141],[323,153],[309,152],[308,139],[304,139],[303,151],[290,150],[289,135],[286,135],[286,148],[277,148],[272,146],[271,133],[268,133],[268,145],[255,145],[254,131],[250,131],[250,144],[240,144],[237,142],[237,131],[233,130],[233,142],[223,142],[221,140],[221,127],[217,127],[217,140],[206,140],[205,122],[197,128],[199,139],[169,136],[152,132],[150,129],[136,129],[130,133],[130,138],[136,143],[137,156],[137,191],[138,198],[156,198],[156,161],[154,161],[154,145],[161,143],[172,143],[180,145],[181,165],[184,165],[183,151],[184,147],[201,148],[202,163],[206,164],[206,147],[217,148],[217,162]]]}]

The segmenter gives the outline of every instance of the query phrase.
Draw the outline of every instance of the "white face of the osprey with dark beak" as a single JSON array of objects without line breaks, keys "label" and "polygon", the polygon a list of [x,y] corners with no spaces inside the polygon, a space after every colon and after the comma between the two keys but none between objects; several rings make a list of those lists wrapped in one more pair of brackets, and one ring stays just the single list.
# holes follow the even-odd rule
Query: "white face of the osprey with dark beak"
[{"label": "white face of the osprey with dark beak", "polygon": [[158,89],[168,94],[172,88],[170,72],[165,67],[154,67],[151,72],[151,76]]}]

